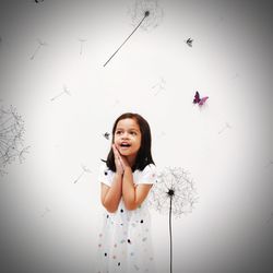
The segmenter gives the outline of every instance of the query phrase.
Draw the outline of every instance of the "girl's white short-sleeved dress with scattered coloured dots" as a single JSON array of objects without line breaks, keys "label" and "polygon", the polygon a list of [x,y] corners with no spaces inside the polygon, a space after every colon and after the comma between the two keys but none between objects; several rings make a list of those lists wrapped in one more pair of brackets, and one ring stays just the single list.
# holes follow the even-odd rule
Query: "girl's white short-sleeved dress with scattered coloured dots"
[{"label": "girl's white short-sleeved dress with scattered coloured dots", "polygon": [[[111,186],[115,173],[103,164],[98,181]],[[147,165],[133,173],[135,185],[156,181],[156,168]],[[151,218],[147,198],[133,211],[128,211],[121,198],[118,210],[103,213],[103,230],[98,235],[96,273],[155,273]]]}]

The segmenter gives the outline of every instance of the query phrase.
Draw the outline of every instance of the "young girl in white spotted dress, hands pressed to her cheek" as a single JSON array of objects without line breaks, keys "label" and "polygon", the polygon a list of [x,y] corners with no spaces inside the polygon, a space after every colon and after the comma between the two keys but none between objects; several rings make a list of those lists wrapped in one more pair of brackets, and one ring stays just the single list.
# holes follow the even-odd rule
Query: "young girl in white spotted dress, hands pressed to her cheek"
[{"label": "young girl in white spotted dress, hands pressed to her cheek", "polygon": [[147,195],[156,180],[151,131],[138,114],[121,115],[98,176],[105,207],[97,273],[154,273]]}]

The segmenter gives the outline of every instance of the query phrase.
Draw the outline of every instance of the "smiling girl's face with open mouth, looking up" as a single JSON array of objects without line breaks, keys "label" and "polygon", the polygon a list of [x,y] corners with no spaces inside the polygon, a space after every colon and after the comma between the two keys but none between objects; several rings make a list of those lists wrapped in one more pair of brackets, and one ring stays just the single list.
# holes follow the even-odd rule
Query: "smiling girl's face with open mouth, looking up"
[{"label": "smiling girl's face with open mouth, looking up", "polygon": [[134,159],[141,146],[141,131],[138,122],[131,118],[119,120],[114,143],[121,155]]}]

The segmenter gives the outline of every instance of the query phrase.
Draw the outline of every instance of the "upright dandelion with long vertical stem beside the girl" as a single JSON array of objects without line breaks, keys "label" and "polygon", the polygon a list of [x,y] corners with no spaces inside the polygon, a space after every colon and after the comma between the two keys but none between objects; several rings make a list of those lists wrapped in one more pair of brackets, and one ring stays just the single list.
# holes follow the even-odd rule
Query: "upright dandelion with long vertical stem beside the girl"
[{"label": "upright dandelion with long vertical stem beside the girl", "polygon": [[157,176],[151,191],[150,204],[159,213],[169,215],[170,273],[173,272],[171,215],[180,217],[192,212],[197,203],[197,191],[192,179],[182,168],[166,167]]}]

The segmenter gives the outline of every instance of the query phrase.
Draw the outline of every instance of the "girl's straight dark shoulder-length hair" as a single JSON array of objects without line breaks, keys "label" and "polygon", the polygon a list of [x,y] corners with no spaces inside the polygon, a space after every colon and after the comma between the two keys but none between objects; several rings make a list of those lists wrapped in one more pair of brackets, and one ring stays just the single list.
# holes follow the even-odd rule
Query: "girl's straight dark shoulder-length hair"
[{"label": "girl's straight dark shoulder-length hair", "polygon": [[[141,117],[139,114],[133,114],[133,112],[124,112],[120,117],[118,117],[112,127],[111,143],[114,143],[115,131],[118,122],[121,119],[127,119],[127,118],[134,119],[138,122],[141,131],[141,145],[135,158],[135,163],[132,166],[132,171],[134,171],[135,169],[143,170],[149,164],[154,164],[151,153],[151,146],[152,146],[151,130],[147,121],[143,117]],[[110,152],[107,156],[106,165],[110,170],[116,171],[115,156],[112,149],[110,149]]]}]

